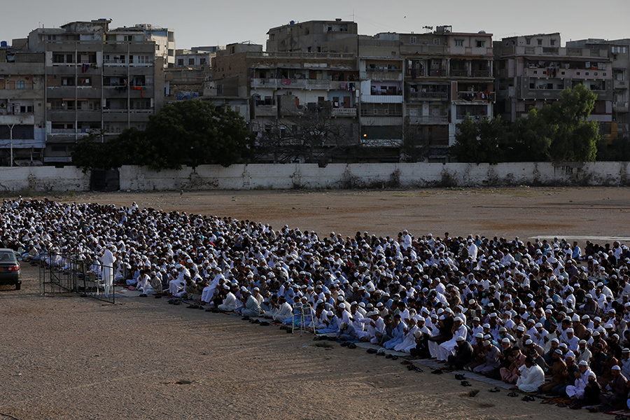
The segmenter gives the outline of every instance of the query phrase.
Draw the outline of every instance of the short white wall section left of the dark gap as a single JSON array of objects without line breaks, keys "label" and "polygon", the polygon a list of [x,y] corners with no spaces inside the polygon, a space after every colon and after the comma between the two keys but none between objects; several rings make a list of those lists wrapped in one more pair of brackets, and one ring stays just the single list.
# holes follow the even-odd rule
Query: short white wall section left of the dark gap
[{"label": "short white wall section left of the dark gap", "polygon": [[76,167],[1,167],[0,191],[22,193],[37,191],[87,191],[90,173],[83,174]]}]

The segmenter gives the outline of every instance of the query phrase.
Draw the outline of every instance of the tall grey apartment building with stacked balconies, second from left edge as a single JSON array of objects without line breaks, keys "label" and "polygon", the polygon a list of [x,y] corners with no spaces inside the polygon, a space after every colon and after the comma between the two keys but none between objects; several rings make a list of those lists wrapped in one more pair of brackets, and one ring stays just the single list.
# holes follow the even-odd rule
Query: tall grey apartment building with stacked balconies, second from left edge
[{"label": "tall grey apartment building with stacked balconies, second from left edge", "polygon": [[69,162],[73,145],[91,132],[106,140],[128,127],[143,130],[162,105],[164,64],[155,42],[137,31],[111,32],[109,23],[38,28],[18,40],[45,57],[45,163]]}]

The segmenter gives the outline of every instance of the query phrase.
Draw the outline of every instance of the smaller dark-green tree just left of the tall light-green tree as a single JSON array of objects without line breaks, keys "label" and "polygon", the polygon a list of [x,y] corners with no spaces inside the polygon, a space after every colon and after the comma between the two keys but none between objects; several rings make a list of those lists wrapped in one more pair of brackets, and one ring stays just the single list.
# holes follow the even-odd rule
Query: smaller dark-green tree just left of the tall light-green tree
[{"label": "smaller dark-green tree just left of the tall light-green tree", "polygon": [[459,162],[496,163],[500,160],[499,144],[504,137],[500,116],[492,119],[486,116],[479,122],[466,116],[457,125],[451,153]]}]

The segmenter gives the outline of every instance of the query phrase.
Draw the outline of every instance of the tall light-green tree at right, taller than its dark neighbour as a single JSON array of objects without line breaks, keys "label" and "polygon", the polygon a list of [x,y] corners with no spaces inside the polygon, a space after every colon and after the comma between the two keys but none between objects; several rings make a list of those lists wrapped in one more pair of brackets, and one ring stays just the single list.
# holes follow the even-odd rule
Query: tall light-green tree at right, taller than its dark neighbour
[{"label": "tall light-green tree at right, taller than its dark neighbour", "polygon": [[565,89],[560,100],[531,109],[514,125],[516,141],[533,158],[552,162],[592,162],[600,139],[597,121],[588,118],[597,95],[584,85]]}]

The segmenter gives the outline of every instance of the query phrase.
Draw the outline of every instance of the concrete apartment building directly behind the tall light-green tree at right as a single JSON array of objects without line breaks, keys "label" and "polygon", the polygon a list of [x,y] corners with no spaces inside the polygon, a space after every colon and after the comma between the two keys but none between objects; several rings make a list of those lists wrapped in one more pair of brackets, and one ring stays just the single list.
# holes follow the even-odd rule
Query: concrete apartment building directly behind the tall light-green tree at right
[{"label": "concrete apartment building directly behind the tall light-green tree at right", "polygon": [[566,88],[583,84],[597,94],[591,120],[610,132],[612,62],[607,48],[563,48],[560,34],[511,36],[495,41],[496,113],[513,122],[532,106],[556,101]]}]

